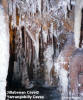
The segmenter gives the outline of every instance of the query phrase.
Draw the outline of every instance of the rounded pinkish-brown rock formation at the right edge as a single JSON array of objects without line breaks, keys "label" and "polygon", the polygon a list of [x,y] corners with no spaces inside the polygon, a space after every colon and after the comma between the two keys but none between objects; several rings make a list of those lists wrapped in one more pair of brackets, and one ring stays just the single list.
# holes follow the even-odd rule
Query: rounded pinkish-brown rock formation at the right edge
[{"label": "rounded pinkish-brown rock formation at the right edge", "polygon": [[[80,93],[79,87],[83,84],[81,73],[83,70],[83,49],[77,49],[73,52],[72,58],[70,60],[70,83],[72,95],[78,96]],[[81,80],[80,80],[81,79]],[[80,85],[80,86],[79,86]],[[81,89],[82,87],[80,87]]]}]

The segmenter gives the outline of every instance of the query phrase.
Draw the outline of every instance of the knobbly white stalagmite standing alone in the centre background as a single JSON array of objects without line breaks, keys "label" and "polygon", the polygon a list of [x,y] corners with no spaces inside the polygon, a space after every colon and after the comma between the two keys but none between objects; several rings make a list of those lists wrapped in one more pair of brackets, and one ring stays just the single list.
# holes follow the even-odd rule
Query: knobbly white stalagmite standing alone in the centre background
[{"label": "knobbly white stalagmite standing alone in the centre background", "polygon": [[45,84],[51,86],[51,69],[53,67],[53,46],[49,45],[47,49],[44,51],[44,60],[45,60]]}]

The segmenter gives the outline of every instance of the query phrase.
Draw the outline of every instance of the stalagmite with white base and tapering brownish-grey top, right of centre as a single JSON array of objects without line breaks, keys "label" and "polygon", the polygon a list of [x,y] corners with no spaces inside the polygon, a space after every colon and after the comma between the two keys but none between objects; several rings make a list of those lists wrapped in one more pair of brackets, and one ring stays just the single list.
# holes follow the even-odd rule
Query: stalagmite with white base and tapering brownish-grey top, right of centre
[{"label": "stalagmite with white base and tapering brownish-grey top, right of centre", "polygon": [[74,38],[72,33],[68,36],[64,49],[60,52],[57,61],[54,63],[55,72],[59,76],[60,89],[62,96],[68,95],[68,64],[72,52],[75,50]]}]

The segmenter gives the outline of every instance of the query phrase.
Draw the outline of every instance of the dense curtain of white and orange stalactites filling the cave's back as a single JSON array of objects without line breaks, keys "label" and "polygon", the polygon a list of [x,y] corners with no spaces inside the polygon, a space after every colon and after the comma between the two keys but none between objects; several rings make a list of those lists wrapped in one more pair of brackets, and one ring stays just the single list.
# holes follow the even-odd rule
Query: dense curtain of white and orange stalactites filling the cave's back
[{"label": "dense curtain of white and orange stalactites filling the cave's back", "polygon": [[67,8],[70,10],[70,0],[9,0],[14,78],[21,82],[26,79],[24,77],[28,81],[41,78],[46,85],[54,84],[54,62],[67,33],[73,31],[73,24],[69,23],[72,20],[67,18]]}]

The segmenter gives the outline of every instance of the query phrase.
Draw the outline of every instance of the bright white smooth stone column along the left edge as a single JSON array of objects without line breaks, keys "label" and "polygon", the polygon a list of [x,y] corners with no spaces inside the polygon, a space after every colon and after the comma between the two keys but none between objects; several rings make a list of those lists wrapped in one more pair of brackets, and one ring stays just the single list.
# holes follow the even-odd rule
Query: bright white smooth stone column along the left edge
[{"label": "bright white smooth stone column along the left edge", "polygon": [[8,18],[0,5],[0,99],[6,98],[6,78],[9,66],[9,29]]}]

